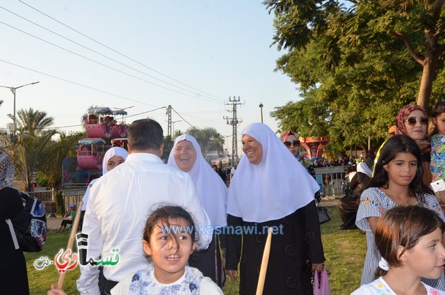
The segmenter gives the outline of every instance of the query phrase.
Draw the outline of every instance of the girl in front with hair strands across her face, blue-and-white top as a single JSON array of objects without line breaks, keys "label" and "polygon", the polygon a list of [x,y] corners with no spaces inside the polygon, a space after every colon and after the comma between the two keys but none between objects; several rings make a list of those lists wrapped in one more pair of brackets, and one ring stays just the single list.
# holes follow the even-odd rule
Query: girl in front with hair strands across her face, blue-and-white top
[{"label": "girl in front with hair strands across her face, blue-and-white top", "polygon": [[143,249],[152,264],[124,278],[111,294],[223,294],[210,278],[186,266],[195,233],[193,219],[182,207],[156,209],[143,232]]}]

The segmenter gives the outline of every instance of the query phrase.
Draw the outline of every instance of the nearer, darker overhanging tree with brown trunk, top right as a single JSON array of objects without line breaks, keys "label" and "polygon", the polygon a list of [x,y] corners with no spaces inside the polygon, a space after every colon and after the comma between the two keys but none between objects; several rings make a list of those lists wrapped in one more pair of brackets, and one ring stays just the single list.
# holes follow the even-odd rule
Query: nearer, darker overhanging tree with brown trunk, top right
[{"label": "nearer, darker overhanging tree with brown trunk, top right", "polygon": [[[392,54],[404,55],[409,61],[402,58],[399,65],[406,61],[409,67],[416,67],[417,104],[428,108],[433,81],[443,68],[445,1],[345,2],[350,6],[336,0],[264,1],[269,12],[275,14],[273,44],[280,50],[289,50],[290,54],[279,61],[279,67],[280,63],[281,67],[289,66],[287,63],[291,59],[288,57],[300,58],[309,66],[314,59],[321,61],[322,67],[313,67],[309,73],[300,72],[300,77],[296,77],[299,80],[306,75],[301,82],[314,85],[321,71],[334,70],[348,58],[357,57],[350,55],[357,54],[351,47],[375,52],[377,58],[384,61]],[[304,49],[314,41],[316,52],[312,58],[307,58],[308,51]],[[390,65],[385,72],[391,70]]]}]

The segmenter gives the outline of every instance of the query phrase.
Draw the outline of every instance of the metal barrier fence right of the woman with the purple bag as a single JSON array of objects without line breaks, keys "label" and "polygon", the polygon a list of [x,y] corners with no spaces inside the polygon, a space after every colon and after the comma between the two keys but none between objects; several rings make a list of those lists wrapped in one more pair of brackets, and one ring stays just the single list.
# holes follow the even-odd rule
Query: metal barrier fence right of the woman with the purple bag
[{"label": "metal barrier fence right of the woman with the purple bag", "polygon": [[314,168],[316,181],[320,185],[321,197],[341,198],[343,184],[348,166]]}]

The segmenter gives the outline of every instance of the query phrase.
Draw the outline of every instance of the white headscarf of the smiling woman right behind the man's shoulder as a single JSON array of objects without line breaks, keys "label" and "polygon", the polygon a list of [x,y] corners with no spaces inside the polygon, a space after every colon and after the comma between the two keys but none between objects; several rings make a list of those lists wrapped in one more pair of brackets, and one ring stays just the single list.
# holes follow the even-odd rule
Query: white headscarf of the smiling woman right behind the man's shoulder
[{"label": "white headscarf of the smiling woman right behind the man's shoulder", "polygon": [[196,150],[195,164],[186,173],[191,176],[195,184],[197,196],[202,207],[210,217],[213,228],[227,225],[225,207],[227,205],[227,186],[220,175],[216,173],[202,156],[200,145],[196,139],[188,134],[182,134],[175,139],[172,151],[168,157],[167,165],[178,168],[175,161],[175,148],[179,141],[190,141]]}]

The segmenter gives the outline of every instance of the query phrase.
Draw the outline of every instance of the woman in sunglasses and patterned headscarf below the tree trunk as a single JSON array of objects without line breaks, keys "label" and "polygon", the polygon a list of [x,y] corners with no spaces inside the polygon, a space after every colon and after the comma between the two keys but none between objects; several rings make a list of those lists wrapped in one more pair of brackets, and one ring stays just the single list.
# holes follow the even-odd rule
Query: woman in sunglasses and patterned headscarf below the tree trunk
[{"label": "woman in sunglasses and patterned headscarf below the tree trunk", "polygon": [[429,186],[432,180],[430,170],[431,144],[428,138],[428,115],[426,115],[425,109],[417,104],[403,106],[396,117],[397,134],[410,136],[419,145],[423,166],[422,182]]}]

